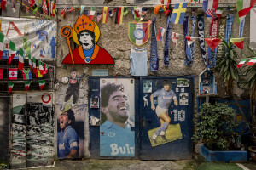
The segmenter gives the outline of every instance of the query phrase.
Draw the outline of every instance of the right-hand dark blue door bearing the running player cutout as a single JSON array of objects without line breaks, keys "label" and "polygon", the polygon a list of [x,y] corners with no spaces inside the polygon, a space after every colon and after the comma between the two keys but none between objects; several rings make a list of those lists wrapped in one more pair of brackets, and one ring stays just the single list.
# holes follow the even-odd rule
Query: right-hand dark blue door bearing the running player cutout
[{"label": "right-hand dark blue door bearing the running player cutout", "polygon": [[[142,160],[192,158],[193,83],[192,77],[141,78]],[[166,90],[167,84],[171,85]],[[150,98],[153,99],[155,110],[152,110]]]}]

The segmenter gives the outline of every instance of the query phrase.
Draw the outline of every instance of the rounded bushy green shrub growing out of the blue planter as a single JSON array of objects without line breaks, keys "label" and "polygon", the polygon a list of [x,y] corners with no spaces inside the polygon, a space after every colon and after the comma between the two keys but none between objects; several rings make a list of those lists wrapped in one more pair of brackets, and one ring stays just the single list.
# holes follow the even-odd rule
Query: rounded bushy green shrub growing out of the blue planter
[{"label": "rounded bushy green shrub growing out of the blue planter", "polygon": [[228,150],[228,136],[237,126],[234,122],[235,113],[236,110],[225,104],[215,103],[207,106],[204,103],[200,107],[200,112],[194,116],[196,130],[192,139],[202,139],[211,150]]}]

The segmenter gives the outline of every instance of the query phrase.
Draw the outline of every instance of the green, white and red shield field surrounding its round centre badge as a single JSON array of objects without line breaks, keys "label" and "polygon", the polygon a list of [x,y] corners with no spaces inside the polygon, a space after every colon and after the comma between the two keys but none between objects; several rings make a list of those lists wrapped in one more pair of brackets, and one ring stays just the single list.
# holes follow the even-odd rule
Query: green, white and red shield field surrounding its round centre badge
[{"label": "green, white and red shield field surrounding its round centre badge", "polygon": [[[149,21],[148,21],[149,23]],[[148,41],[148,23],[130,23],[130,29],[129,29],[129,38],[131,40],[131,42],[135,43],[137,46],[142,46],[145,42]],[[144,35],[142,39],[136,39],[133,36],[133,32],[137,29],[143,29],[144,31]]]}]

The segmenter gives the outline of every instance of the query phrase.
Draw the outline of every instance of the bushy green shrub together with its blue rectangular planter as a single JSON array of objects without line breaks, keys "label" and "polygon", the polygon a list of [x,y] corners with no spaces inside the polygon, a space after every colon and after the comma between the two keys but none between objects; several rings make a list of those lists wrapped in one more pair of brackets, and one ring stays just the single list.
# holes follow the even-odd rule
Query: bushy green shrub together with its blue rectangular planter
[{"label": "bushy green shrub together with its blue rectangular planter", "polygon": [[236,110],[226,104],[215,103],[208,106],[204,103],[200,112],[195,114],[194,141],[201,140],[201,156],[207,161],[247,161],[247,151],[233,150],[230,136],[236,127],[234,115]]}]

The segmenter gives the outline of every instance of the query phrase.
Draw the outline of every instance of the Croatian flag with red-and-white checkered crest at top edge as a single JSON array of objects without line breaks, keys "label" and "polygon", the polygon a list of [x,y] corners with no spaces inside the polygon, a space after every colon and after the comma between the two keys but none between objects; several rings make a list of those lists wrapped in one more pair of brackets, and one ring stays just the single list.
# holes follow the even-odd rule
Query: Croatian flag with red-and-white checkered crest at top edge
[{"label": "Croatian flag with red-and-white checkered crest at top edge", "polygon": [[207,16],[207,19],[212,22],[212,16],[214,16],[218,8],[218,0],[204,0],[202,8]]}]

